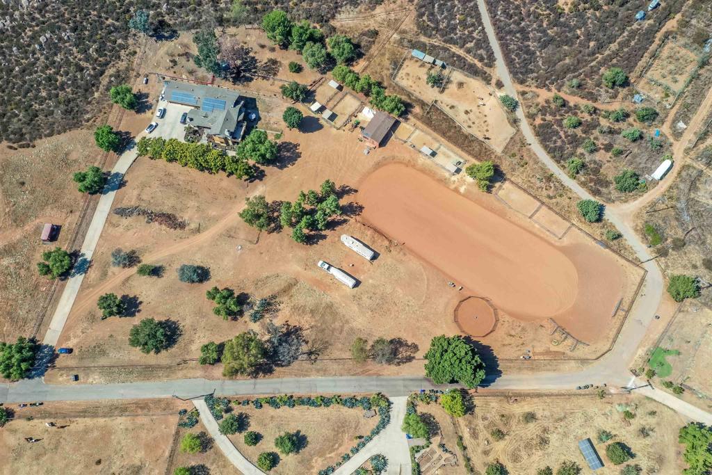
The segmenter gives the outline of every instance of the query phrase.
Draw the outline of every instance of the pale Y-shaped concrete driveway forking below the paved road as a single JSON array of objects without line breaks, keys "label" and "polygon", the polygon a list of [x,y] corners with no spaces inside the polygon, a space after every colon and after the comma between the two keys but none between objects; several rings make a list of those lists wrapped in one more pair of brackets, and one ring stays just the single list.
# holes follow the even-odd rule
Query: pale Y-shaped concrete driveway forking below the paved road
[{"label": "pale Y-shaped concrete driveway forking below the paved road", "polygon": [[376,454],[381,454],[388,460],[388,466],[385,471],[387,475],[410,474],[410,451],[405,434],[400,429],[405,417],[408,397],[391,397],[390,400],[393,403],[391,407],[391,422],[366,447],[340,466],[334,472],[334,475],[351,475],[365,461]]}]

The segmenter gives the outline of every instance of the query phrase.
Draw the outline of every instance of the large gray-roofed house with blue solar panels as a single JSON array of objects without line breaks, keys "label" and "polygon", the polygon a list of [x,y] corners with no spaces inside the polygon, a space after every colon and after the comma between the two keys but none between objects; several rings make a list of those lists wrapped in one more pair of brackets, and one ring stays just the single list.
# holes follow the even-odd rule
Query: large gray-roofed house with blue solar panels
[{"label": "large gray-roofed house with blue solar panels", "polygon": [[226,147],[239,142],[245,133],[246,98],[236,90],[165,81],[164,97],[169,103],[193,108],[187,123],[204,129],[208,142]]}]

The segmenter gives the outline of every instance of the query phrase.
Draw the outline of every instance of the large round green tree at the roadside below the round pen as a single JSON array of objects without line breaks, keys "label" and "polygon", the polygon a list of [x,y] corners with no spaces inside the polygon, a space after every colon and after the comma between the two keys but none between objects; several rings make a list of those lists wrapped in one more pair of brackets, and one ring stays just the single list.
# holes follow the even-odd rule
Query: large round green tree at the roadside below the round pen
[{"label": "large round green tree at the roadside below the round pen", "polygon": [[476,387],[485,377],[484,363],[459,335],[433,338],[425,359],[425,375],[436,385],[456,381],[465,387]]}]

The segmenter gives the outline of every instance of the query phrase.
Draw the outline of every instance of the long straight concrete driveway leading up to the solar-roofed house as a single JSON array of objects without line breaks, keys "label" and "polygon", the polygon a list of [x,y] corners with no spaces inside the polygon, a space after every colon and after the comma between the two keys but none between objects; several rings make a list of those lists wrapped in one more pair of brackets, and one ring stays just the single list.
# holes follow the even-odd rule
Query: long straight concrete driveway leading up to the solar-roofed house
[{"label": "long straight concrete driveway leading up to the solar-roofed house", "polygon": [[136,160],[136,157],[137,151],[134,146],[132,149],[121,154],[114,169],[111,171],[111,175],[99,199],[99,204],[94,212],[94,217],[84,237],[84,242],[80,249],[79,261],[75,263],[74,272],[70,278],[68,278],[67,285],[62,291],[62,296],[59,298],[57,308],[52,315],[47,333],[45,333],[45,338],[42,340],[44,345],[55,346],[57,340],[59,340],[59,335],[61,335],[64,325],[67,323],[69,312],[74,305],[74,299],[77,297],[77,293],[79,293],[79,288],[89,268],[96,245],[99,242],[99,236],[101,236],[101,231],[104,229],[106,219],[111,212],[111,205],[114,202],[116,191],[121,186],[124,174],[134,160]]}]

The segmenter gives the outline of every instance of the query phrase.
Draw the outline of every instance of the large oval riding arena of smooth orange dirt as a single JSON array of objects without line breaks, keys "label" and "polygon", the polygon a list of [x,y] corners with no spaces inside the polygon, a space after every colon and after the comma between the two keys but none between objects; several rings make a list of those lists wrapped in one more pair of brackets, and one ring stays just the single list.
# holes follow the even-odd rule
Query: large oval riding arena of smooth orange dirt
[{"label": "large oval riding arena of smooth orange dirt", "polygon": [[[587,327],[582,333],[592,337],[590,330],[598,333],[598,325],[592,325],[590,315],[582,315],[581,304],[603,298],[607,306],[622,285],[621,278],[600,269],[578,271],[575,262],[582,259],[570,259],[567,251],[572,249],[556,246],[400,163],[384,165],[366,177],[358,201],[367,224],[515,318],[579,320],[574,326]],[[595,247],[577,247],[575,252],[590,249],[596,259],[605,260],[598,254],[606,251]],[[613,273],[615,267],[613,263]],[[580,282],[580,274],[586,282]]]}]

